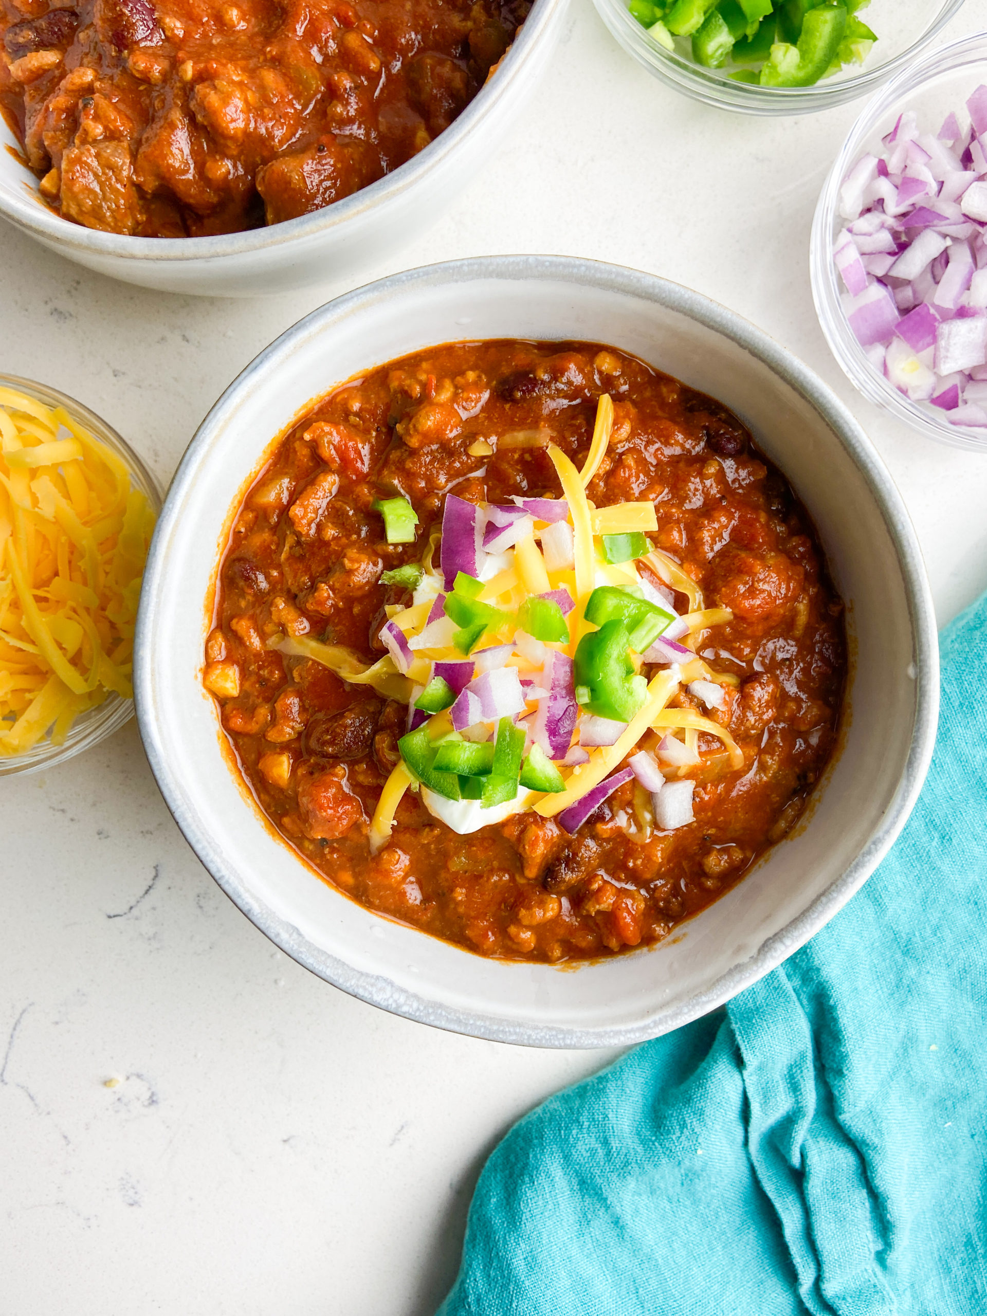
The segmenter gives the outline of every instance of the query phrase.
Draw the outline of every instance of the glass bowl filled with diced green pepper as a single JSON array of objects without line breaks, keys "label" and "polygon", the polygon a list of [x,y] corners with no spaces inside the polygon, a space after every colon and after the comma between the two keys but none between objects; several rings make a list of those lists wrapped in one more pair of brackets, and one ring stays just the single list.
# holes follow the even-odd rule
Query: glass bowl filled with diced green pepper
[{"label": "glass bowl filled with diced green pepper", "polygon": [[963,0],[595,0],[655,78],[708,105],[803,114],[874,91]]}]

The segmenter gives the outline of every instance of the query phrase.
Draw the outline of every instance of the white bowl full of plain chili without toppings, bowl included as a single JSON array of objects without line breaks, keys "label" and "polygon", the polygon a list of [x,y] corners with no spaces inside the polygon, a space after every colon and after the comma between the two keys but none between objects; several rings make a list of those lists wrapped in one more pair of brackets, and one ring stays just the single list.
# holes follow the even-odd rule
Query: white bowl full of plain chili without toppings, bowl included
[{"label": "white bowl full of plain chili without toppings, bowl included", "polygon": [[166,291],[349,275],[480,167],[562,8],[12,3],[0,213],[71,259]]}]

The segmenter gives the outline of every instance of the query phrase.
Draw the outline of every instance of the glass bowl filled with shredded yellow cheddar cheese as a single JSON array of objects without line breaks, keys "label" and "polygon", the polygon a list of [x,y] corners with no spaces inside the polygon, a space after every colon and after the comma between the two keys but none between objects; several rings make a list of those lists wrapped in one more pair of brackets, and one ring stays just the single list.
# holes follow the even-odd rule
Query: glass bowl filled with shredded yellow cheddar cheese
[{"label": "glass bowl filled with shredded yellow cheddar cheese", "polygon": [[133,713],[133,637],[161,496],[88,408],[0,374],[0,776]]}]

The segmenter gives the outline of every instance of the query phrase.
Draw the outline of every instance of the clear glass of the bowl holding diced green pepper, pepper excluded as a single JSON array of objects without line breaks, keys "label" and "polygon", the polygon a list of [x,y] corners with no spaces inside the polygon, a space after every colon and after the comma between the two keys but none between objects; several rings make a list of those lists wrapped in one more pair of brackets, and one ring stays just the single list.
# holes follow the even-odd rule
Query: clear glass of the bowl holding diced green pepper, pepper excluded
[{"label": "clear glass of the bowl holding diced green pepper, pepper excluded", "polygon": [[666,50],[628,12],[628,0],[594,0],[620,45],[676,91],[741,114],[809,114],[866,96],[908,64],[959,11],[963,0],[871,0],[861,17],[878,41],[863,64],[853,64],[815,87],[751,87],[732,82],[732,68],[703,68],[690,54],[691,38]]}]

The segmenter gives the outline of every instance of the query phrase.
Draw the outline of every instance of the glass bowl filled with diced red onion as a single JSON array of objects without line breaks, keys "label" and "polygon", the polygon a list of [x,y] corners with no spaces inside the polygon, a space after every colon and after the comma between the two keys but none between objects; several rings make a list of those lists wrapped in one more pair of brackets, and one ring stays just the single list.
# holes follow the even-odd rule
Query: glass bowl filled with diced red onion
[{"label": "glass bowl filled with diced red onion", "polygon": [[867,105],[822,188],[809,262],[857,388],[929,438],[987,450],[987,33]]}]

